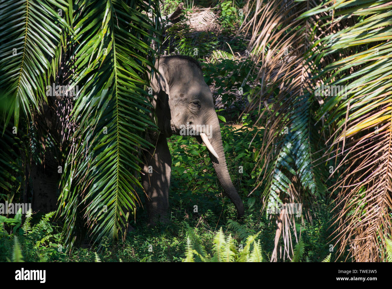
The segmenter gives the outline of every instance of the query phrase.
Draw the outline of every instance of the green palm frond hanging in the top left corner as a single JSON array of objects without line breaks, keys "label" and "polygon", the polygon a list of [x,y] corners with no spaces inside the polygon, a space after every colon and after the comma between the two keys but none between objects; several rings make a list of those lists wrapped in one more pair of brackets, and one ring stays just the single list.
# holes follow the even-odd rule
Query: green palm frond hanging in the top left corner
[{"label": "green palm frond hanging in the top left corner", "polygon": [[3,1],[0,14],[2,45],[0,48],[0,90],[4,98],[10,98],[5,117],[11,116],[17,127],[20,110],[25,116],[38,110],[46,99],[44,77],[51,67],[49,59],[56,54],[61,30],[65,24],[58,14],[67,10],[62,0]]}]

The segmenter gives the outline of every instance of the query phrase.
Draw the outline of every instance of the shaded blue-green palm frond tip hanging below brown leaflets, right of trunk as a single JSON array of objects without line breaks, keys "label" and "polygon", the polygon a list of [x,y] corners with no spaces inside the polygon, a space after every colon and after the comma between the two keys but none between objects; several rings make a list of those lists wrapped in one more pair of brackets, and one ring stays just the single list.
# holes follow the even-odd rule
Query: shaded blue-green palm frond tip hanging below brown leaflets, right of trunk
[{"label": "shaded blue-green palm frond tip hanging below brown leaflets, right of trunk", "polygon": [[[265,175],[268,185],[263,192],[265,199],[269,200],[265,205],[272,210],[276,203],[282,203],[282,199],[305,203],[309,208],[316,197],[325,196],[327,191],[324,182],[328,176],[315,162],[320,157],[315,152],[319,134],[312,118],[311,103],[309,93],[295,98],[290,112],[290,127],[277,136],[284,138],[276,144],[281,149]],[[301,190],[301,194],[293,194],[290,186]]]}]

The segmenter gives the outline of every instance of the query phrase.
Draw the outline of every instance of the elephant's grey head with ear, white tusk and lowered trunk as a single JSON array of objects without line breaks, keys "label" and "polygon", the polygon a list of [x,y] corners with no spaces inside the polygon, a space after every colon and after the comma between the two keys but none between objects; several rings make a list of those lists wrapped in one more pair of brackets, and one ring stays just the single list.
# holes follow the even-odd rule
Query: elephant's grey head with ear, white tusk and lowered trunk
[{"label": "elephant's grey head with ear, white tusk and lowered trunk", "polygon": [[[203,142],[225,194],[234,203],[238,215],[243,216],[242,200],[227,170],[212,93],[204,81],[200,64],[191,57],[169,56],[157,60],[155,68],[159,73],[151,78],[152,103],[161,134],[165,138],[172,134],[192,135]],[[158,153],[162,157],[162,152]],[[159,170],[159,164],[155,166]]]}]

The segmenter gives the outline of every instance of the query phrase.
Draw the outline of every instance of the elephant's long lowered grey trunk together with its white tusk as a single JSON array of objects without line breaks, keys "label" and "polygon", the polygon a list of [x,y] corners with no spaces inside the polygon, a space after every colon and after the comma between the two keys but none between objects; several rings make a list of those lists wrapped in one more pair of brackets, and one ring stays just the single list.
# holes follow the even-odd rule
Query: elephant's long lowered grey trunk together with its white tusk
[{"label": "elephant's long lowered grey trunk together with its white tusk", "polygon": [[[206,144],[209,149],[209,155],[212,161],[212,165],[216,171],[216,175],[218,176],[219,182],[225,191],[225,194],[230,198],[232,203],[236,206],[238,216],[241,217],[244,214],[244,205],[240,196],[237,193],[236,188],[234,187],[230,175],[229,170],[227,169],[225,153],[223,152],[223,143],[220,132],[220,126],[218,117],[216,114],[214,117],[211,117],[212,123],[212,131],[210,132],[211,136],[209,139],[205,140],[207,137],[201,137],[203,143]],[[212,150],[209,147],[211,144]],[[216,157],[218,155],[218,157]]]}]

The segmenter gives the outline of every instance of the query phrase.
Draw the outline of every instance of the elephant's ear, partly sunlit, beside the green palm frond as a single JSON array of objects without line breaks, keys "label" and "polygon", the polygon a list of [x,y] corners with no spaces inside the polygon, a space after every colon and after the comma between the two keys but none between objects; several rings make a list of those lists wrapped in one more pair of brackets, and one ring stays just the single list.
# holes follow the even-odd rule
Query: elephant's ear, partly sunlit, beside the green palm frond
[{"label": "elephant's ear, partly sunlit, beside the green palm frond", "polygon": [[152,106],[155,109],[156,124],[166,135],[171,136],[171,113],[169,107],[169,67],[162,63],[158,66],[159,73],[153,73],[151,88],[153,92]]}]

